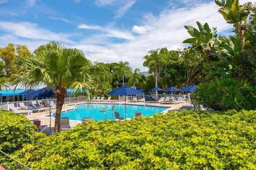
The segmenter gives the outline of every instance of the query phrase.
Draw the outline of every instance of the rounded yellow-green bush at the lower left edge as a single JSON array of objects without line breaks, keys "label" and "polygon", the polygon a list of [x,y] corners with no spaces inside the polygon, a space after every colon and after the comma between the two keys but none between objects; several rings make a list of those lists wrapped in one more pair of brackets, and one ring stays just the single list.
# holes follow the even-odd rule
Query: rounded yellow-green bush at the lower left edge
[{"label": "rounded yellow-green bush at the lower left edge", "polygon": [[25,143],[32,143],[35,128],[26,116],[0,110],[0,150],[13,152]]}]

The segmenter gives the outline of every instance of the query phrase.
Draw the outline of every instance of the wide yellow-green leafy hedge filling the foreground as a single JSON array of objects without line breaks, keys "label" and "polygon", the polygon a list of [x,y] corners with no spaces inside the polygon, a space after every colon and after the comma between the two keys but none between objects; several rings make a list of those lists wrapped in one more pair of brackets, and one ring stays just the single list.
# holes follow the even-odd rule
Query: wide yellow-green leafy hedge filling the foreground
[{"label": "wide yellow-green leafy hedge filling the foreground", "polygon": [[87,123],[13,156],[35,170],[256,169],[256,111],[180,111]]}]

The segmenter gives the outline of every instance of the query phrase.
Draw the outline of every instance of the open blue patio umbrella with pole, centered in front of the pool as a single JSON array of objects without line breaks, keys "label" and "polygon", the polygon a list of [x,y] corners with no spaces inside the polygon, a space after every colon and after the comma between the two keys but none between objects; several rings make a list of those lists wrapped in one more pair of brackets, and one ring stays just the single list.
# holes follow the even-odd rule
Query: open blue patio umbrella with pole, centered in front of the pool
[{"label": "open blue patio umbrella with pole, centered in front of the pool", "polygon": [[108,92],[107,94],[112,95],[112,96],[124,95],[124,112],[125,112],[125,119],[126,119],[126,97],[125,96],[135,95],[135,94],[143,94],[143,92],[124,85],[120,88],[116,88],[115,90],[112,90],[111,92]]}]

